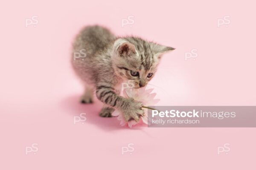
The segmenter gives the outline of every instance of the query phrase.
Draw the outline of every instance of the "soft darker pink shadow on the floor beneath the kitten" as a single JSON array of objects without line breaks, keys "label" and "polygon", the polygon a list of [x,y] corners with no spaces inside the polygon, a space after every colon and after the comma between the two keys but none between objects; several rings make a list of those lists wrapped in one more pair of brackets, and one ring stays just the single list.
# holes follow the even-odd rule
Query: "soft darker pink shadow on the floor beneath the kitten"
[{"label": "soft darker pink shadow on the floor beneath the kitten", "polygon": [[[86,122],[93,124],[102,130],[127,130],[129,127],[122,127],[119,125],[119,120],[116,117],[100,117],[99,111],[102,108],[102,103],[94,98],[92,104],[82,104],[79,102],[80,96],[68,96],[61,102],[61,106],[67,110],[67,113],[71,116],[79,116],[80,113],[86,113]],[[144,128],[144,125],[136,125],[131,130],[140,130]]]}]

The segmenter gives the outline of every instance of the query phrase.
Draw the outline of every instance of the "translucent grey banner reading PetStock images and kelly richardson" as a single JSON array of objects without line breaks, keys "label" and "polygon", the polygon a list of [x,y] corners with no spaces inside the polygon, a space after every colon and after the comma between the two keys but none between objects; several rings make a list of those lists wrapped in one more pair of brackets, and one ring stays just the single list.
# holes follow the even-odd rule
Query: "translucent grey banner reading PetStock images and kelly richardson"
[{"label": "translucent grey banner reading PetStock images and kelly richardson", "polygon": [[148,127],[256,127],[256,106],[150,106]]}]

